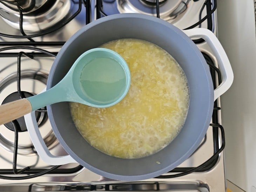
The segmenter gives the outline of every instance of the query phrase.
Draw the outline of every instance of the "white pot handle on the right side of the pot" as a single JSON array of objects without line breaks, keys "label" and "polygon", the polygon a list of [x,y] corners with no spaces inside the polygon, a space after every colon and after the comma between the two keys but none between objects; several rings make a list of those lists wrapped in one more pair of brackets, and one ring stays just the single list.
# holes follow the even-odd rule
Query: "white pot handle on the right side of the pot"
[{"label": "white pot handle on the right side of the pot", "polygon": [[217,62],[218,67],[221,71],[222,82],[221,84],[214,90],[214,101],[221,96],[224,92],[226,92],[234,80],[234,74],[228,59],[227,54],[225,53],[220,41],[217,37],[208,29],[204,28],[195,28],[183,30],[183,32],[188,35],[190,38],[197,37],[204,39],[211,50],[213,51]]}]

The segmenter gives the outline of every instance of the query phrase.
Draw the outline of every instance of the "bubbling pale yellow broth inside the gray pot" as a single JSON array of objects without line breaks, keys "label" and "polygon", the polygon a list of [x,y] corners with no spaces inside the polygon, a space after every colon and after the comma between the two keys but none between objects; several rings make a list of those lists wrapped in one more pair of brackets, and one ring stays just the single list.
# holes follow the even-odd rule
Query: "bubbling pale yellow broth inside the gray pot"
[{"label": "bubbling pale yellow broth inside the gray pot", "polygon": [[184,72],[165,50],[142,40],[102,45],[126,60],[128,94],[109,108],[70,103],[76,127],[96,149],[120,158],[140,158],[167,146],[182,128],[189,106]]}]

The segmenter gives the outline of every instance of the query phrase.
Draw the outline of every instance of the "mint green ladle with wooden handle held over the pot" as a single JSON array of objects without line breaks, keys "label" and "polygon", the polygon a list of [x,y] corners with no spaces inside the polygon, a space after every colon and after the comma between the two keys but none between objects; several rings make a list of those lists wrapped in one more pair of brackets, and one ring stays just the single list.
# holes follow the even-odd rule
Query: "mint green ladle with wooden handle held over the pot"
[{"label": "mint green ladle with wooden handle held over the pot", "polygon": [[46,105],[71,101],[92,107],[115,105],[130,87],[126,61],[116,52],[95,48],[83,53],[66,76],[41,94],[0,106],[0,124],[17,119]]}]

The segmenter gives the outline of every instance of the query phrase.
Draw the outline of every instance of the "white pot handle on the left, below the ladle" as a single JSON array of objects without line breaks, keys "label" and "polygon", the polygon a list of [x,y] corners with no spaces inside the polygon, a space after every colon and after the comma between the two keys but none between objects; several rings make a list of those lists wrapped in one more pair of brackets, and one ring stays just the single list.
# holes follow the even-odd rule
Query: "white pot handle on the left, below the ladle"
[{"label": "white pot handle on the left, below the ladle", "polygon": [[[46,91],[46,88],[42,92],[44,91]],[[69,155],[54,156],[52,155],[52,153],[50,153],[39,131],[36,118],[35,118],[35,111],[32,111],[31,113],[25,115],[24,118],[27,125],[28,134],[32,140],[32,143],[38,155],[41,157],[41,159],[45,163],[49,165],[64,165],[68,163],[77,163]]]}]

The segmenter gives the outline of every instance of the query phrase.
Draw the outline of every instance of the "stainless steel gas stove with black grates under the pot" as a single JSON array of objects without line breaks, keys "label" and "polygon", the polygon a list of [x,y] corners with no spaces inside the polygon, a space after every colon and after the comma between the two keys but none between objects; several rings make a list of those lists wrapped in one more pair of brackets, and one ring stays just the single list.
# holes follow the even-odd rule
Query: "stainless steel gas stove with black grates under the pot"
[{"label": "stainless steel gas stove with black grates under the pot", "polygon": [[[7,2],[0,1],[1,103],[41,92],[46,87],[54,58],[65,41],[82,26],[107,15],[149,14],[180,29],[203,27],[217,33],[213,10],[216,1],[210,0],[54,0],[42,1],[42,5],[34,6],[31,11],[26,11],[19,3],[10,6]],[[206,15],[205,21],[193,26]],[[202,39],[194,39],[194,42],[209,64],[216,87],[221,82],[216,57]],[[49,152],[54,156],[66,156],[51,129],[46,108],[35,113]],[[0,177],[0,191],[225,191],[220,98],[215,102],[207,134],[193,155],[174,170],[143,181],[111,180],[78,163],[49,165],[36,152],[24,118],[18,119],[18,123],[16,134],[12,123],[0,125],[0,175],[5,176]],[[14,174],[13,167],[18,170],[25,167],[25,170]],[[26,178],[49,169],[52,170],[47,174]]]}]

